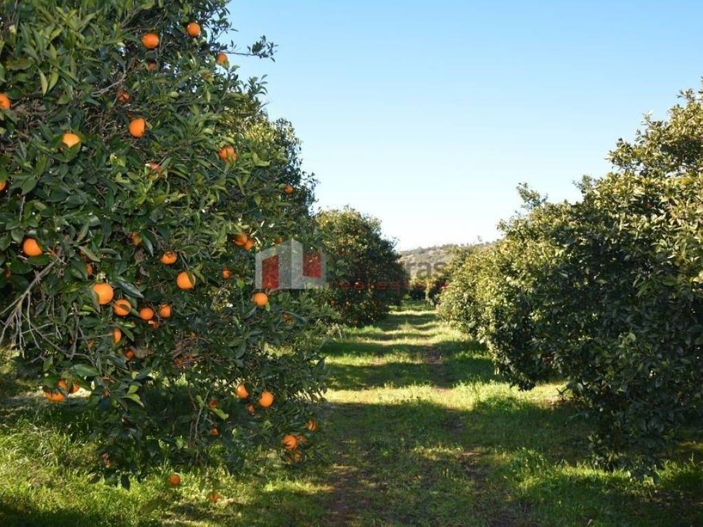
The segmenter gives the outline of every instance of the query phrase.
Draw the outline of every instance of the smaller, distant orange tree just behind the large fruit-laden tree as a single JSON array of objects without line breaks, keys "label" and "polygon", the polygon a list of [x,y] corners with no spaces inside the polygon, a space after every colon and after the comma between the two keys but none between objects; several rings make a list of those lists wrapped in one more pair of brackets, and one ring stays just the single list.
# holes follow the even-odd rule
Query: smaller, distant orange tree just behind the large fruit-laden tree
[{"label": "smaller, distant orange tree just behind the large fruit-laden tree", "polygon": [[361,326],[387,315],[400,304],[408,280],[394,243],[383,238],[380,221],[354,209],[317,216],[334,275],[323,294],[343,323]]}]

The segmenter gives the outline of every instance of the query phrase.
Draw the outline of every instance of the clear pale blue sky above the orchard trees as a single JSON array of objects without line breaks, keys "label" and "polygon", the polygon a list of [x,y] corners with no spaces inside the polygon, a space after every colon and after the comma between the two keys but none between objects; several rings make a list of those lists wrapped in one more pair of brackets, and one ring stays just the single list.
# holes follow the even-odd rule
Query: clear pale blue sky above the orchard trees
[{"label": "clear pale blue sky above the orchard trees", "polygon": [[703,2],[235,0],[278,44],[271,117],[302,138],[318,206],[378,216],[399,248],[493,240],[521,181],[575,200],[643,114],[703,75]]}]

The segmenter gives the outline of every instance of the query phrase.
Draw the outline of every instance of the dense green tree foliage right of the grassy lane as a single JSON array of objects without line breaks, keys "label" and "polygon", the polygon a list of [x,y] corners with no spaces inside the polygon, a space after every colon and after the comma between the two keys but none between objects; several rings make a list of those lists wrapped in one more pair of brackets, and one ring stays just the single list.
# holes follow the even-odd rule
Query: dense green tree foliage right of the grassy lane
[{"label": "dense green tree foliage right of the grassy lane", "polygon": [[569,379],[610,467],[654,466],[703,412],[703,100],[684,98],[619,141],[615,170],[584,179],[580,202],[522,188],[525,214],[442,298],[521,388]]}]

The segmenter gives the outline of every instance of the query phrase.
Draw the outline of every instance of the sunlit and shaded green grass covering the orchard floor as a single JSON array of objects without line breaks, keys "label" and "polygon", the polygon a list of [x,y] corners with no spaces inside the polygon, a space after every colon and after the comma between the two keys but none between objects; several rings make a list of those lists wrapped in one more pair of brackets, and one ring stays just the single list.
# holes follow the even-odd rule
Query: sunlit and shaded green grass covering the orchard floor
[{"label": "sunlit and shaded green grass covering the orchard floor", "polygon": [[[89,483],[94,445],[79,402],[49,406],[0,379],[0,525],[695,526],[703,445],[662,481],[593,467],[586,423],[557,384],[510,388],[484,349],[419,305],[325,347],[322,459],[263,457],[235,476],[169,467],[128,492]],[[213,483],[213,481],[217,483]],[[205,497],[213,485],[223,496]]]}]

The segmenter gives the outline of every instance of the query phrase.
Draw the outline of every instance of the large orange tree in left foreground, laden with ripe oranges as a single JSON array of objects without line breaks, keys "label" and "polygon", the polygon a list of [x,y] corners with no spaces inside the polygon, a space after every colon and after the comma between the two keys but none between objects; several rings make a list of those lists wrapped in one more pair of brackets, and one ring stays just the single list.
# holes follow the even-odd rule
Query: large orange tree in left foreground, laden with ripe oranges
[{"label": "large orange tree in left foreground, laden with ripe oranges", "polygon": [[318,308],[252,296],[254,250],[309,238],[311,184],[219,44],[225,4],[0,2],[0,342],[49,401],[87,391],[113,483],[297,460],[282,438],[316,428]]}]

